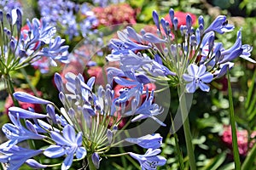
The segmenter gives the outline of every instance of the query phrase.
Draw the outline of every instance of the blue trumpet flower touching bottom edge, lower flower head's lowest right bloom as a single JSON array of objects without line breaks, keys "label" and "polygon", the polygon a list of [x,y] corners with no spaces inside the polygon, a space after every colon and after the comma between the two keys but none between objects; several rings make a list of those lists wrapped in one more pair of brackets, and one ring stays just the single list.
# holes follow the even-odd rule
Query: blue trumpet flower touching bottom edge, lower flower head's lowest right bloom
[{"label": "blue trumpet flower touching bottom edge, lower flower head's lowest right bloom", "polygon": [[140,162],[143,170],[156,169],[159,166],[166,164],[166,158],[163,156],[157,156],[160,154],[160,149],[148,149],[144,155],[138,155],[130,152],[130,156]]}]

